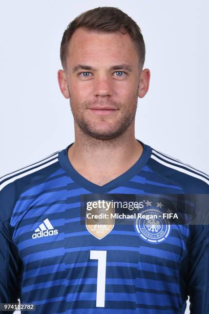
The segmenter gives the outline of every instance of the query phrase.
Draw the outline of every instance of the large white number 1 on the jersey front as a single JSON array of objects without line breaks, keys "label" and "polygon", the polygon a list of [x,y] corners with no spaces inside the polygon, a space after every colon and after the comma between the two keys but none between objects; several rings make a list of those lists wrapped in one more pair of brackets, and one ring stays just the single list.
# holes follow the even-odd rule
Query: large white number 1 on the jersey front
[{"label": "large white number 1 on the jersey front", "polygon": [[90,260],[98,260],[96,307],[105,307],[105,281],[107,251],[90,251]]}]

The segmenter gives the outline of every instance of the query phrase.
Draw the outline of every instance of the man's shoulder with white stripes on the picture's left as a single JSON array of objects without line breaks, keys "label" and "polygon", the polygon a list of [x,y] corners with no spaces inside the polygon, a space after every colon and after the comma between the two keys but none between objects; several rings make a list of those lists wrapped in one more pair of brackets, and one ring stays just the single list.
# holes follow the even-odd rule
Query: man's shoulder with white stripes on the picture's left
[{"label": "man's shoulder with white stripes on the picture's left", "polygon": [[20,194],[44,181],[59,168],[58,153],[54,152],[36,163],[13,171],[0,178],[0,221],[7,219]]}]

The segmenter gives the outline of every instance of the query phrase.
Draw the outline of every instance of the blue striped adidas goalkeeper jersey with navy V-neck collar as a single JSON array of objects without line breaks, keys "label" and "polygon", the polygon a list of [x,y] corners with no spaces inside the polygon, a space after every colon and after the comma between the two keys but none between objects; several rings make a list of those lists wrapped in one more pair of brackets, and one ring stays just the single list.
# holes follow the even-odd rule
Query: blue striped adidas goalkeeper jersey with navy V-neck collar
[{"label": "blue striped adidas goalkeeper jersey with navy V-neck collar", "polygon": [[209,193],[208,175],[139,142],[138,161],[103,186],[72,167],[73,143],[1,178],[0,303],[20,299],[37,314],[175,314],[189,296],[192,314],[209,313],[207,224],[171,224],[150,238],[157,227],[136,219],[99,238],[81,223],[81,195],[143,194],[149,210],[152,194]]}]

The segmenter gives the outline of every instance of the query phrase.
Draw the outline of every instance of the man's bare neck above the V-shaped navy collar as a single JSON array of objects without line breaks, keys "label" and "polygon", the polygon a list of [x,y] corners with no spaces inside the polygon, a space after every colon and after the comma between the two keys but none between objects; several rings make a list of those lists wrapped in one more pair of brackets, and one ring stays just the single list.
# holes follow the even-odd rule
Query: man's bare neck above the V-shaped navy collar
[{"label": "man's bare neck above the V-shaped navy collar", "polygon": [[113,180],[131,168],[142,151],[142,145],[135,139],[134,125],[108,140],[92,138],[75,125],[75,142],[68,150],[68,157],[77,172],[98,184],[97,176],[100,183]]}]

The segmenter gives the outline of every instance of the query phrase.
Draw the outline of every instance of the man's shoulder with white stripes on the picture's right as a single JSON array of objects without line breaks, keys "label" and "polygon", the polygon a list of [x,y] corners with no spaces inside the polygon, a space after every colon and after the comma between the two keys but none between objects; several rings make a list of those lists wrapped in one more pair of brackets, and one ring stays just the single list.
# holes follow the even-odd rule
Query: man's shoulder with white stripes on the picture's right
[{"label": "man's shoulder with white stripes on the picture's right", "polygon": [[161,178],[181,187],[186,193],[209,193],[209,176],[203,171],[152,148],[149,166]]}]

